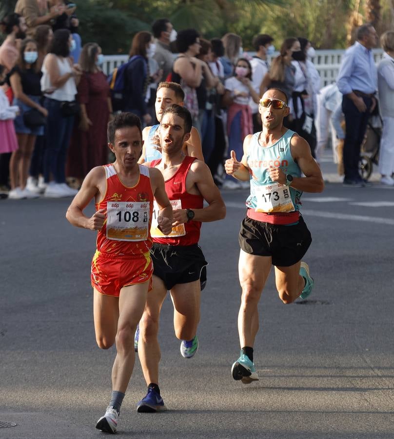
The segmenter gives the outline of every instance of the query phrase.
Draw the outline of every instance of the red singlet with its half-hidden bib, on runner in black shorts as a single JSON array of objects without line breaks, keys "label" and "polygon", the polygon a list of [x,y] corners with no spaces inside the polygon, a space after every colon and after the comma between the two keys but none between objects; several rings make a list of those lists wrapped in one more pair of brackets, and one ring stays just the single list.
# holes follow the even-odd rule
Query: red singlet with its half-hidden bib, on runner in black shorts
[{"label": "red singlet with its half-hidden bib, on runner in black shorts", "polygon": [[[201,195],[189,194],[186,191],[186,177],[189,169],[196,157],[185,156],[177,172],[168,180],[165,181],[165,191],[171,201],[173,209],[202,209],[204,207],[204,199]],[[155,167],[161,160],[154,160],[150,164]],[[156,210],[157,209],[157,210]],[[156,217],[155,217],[156,214]],[[179,226],[174,227],[171,234],[163,235],[155,224],[157,224],[158,206],[156,206],[153,213],[153,220],[151,227],[151,234],[153,242],[169,245],[193,245],[197,244],[200,238],[200,221],[189,221]],[[155,221],[156,219],[156,221]]]}]

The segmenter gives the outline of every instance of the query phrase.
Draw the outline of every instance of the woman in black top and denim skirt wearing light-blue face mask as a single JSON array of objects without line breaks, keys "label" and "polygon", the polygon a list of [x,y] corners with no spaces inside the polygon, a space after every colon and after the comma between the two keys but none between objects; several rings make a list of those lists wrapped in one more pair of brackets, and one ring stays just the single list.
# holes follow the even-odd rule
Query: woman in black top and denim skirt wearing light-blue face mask
[{"label": "woman in black top and denim skirt wearing light-blue face mask", "polygon": [[[20,45],[18,65],[10,73],[11,88],[14,93],[14,105],[18,105],[20,113],[15,119],[19,149],[14,151],[10,160],[11,199],[37,198],[38,195],[26,188],[30,160],[37,136],[44,134],[44,118],[47,110],[40,105],[41,72],[37,68],[38,49],[35,40],[23,40]],[[30,125],[25,114],[37,110],[44,118],[42,125]]]}]

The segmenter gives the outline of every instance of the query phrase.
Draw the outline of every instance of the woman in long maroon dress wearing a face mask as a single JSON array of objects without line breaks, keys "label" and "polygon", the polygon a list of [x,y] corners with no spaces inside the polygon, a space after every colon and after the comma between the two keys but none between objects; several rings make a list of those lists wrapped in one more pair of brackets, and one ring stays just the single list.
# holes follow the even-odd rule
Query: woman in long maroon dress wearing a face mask
[{"label": "woman in long maroon dress wearing a face mask", "polygon": [[77,186],[92,168],[108,163],[107,124],[112,119],[112,103],[102,62],[101,47],[86,43],[79,59],[79,124],[74,125],[66,166],[67,177],[77,179]]}]

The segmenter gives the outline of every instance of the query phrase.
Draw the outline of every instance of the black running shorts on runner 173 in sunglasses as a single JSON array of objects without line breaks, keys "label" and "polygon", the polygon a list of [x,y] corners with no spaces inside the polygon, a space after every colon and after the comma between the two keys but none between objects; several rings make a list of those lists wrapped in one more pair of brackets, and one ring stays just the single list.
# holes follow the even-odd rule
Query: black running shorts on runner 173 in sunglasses
[{"label": "black running shorts on runner 173 in sunglasses", "polygon": [[238,240],[244,252],[271,256],[273,265],[290,267],[305,255],[312,237],[301,216],[294,225],[270,224],[245,217]]}]

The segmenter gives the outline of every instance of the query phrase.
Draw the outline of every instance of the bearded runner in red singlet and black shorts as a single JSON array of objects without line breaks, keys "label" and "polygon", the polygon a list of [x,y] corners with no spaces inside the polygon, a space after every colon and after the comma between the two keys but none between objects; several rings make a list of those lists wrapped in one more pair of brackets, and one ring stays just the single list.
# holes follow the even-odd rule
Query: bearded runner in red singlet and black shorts
[{"label": "bearded runner in red singlet and black shorts", "polygon": [[[148,163],[149,169],[163,174],[165,188],[173,205],[173,229],[170,234],[158,230],[154,206],[151,234],[154,241],[153,290],[149,293],[139,323],[138,355],[148,392],[137,404],[138,412],[165,409],[158,387],[158,319],[167,291],[174,304],[174,328],[182,340],[180,352],[191,358],[198,348],[197,325],[200,317],[200,281],[206,278],[207,264],[198,239],[201,222],[224,218],[226,207],[208,166],[182,153],[189,139],[192,117],[187,109],[170,105],[164,110],[160,125],[162,159]],[[204,200],[208,206],[204,207]]]}]

